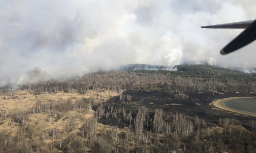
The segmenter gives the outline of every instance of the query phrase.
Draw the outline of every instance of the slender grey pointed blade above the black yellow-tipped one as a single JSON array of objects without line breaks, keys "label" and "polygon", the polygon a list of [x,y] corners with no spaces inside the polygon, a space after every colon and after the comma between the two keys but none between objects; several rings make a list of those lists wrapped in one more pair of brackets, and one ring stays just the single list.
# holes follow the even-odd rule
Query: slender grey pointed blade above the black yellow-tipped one
[{"label": "slender grey pointed blade above the black yellow-tipped one", "polygon": [[225,24],[215,24],[215,25],[208,25],[202,26],[201,28],[212,28],[212,29],[246,29],[252,24],[254,20],[248,21],[240,21],[240,22],[232,22],[232,23],[225,23]]}]

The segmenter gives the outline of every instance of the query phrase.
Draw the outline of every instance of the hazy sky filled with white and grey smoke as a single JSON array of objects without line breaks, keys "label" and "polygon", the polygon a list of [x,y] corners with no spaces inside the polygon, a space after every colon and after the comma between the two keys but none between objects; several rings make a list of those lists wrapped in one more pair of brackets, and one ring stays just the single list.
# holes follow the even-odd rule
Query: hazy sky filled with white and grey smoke
[{"label": "hazy sky filled with white and grey smoke", "polygon": [[255,42],[221,56],[255,0],[0,0],[0,86],[142,63],[255,67]]}]

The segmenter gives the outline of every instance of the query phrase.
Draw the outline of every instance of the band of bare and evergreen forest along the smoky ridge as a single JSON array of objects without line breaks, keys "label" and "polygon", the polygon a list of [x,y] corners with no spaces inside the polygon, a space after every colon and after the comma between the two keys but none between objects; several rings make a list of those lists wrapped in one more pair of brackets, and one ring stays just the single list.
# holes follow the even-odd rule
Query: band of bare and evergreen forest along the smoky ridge
[{"label": "band of bare and evergreen forest along the smoky ridge", "polygon": [[[107,71],[85,74],[64,81],[48,80],[26,84],[20,89],[33,90],[35,95],[59,90],[84,94],[86,90],[161,90],[164,92],[240,92],[245,95],[256,93],[254,74],[242,73],[210,65],[180,65],[176,70]],[[0,89],[0,94],[11,85]]]}]

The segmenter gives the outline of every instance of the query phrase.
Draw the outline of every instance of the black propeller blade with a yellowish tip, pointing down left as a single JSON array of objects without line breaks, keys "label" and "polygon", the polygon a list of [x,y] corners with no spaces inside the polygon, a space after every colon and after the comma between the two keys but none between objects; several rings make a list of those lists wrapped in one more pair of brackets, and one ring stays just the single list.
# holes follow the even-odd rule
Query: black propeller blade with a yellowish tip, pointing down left
[{"label": "black propeller blade with a yellowish tip, pointing down left", "polygon": [[243,46],[251,43],[256,39],[256,20],[249,25],[249,27],[231,41],[223,50],[220,51],[222,55],[231,53]]}]

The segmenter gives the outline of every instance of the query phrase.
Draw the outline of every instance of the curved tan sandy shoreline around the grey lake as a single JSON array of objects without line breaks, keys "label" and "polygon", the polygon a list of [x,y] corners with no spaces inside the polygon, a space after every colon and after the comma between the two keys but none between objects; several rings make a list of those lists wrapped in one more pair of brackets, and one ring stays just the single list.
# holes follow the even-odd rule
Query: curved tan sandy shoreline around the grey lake
[{"label": "curved tan sandy shoreline around the grey lake", "polygon": [[224,98],[224,99],[217,99],[217,100],[214,100],[213,102],[211,102],[209,105],[212,106],[215,109],[218,109],[218,110],[229,111],[229,112],[233,112],[233,113],[238,114],[238,115],[243,114],[243,115],[250,115],[250,116],[255,116],[256,117],[255,113],[239,111],[239,110],[236,110],[236,109],[231,109],[231,108],[227,108],[227,107],[223,106],[224,102],[226,102],[230,99],[240,99],[240,98],[256,98],[256,97],[229,97],[229,98]]}]

